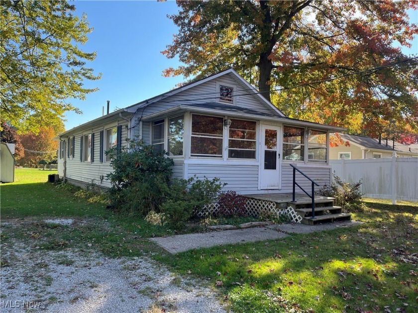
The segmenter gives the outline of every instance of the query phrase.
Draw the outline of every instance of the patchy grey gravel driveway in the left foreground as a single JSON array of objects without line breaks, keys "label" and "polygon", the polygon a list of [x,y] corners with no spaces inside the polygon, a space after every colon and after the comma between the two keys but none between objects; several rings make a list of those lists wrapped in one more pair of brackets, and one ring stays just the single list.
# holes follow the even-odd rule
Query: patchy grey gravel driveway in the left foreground
[{"label": "patchy grey gravel driveway in the left foreground", "polygon": [[1,248],[8,261],[1,268],[1,312],[225,312],[209,288],[147,257],[111,259],[22,242]]}]

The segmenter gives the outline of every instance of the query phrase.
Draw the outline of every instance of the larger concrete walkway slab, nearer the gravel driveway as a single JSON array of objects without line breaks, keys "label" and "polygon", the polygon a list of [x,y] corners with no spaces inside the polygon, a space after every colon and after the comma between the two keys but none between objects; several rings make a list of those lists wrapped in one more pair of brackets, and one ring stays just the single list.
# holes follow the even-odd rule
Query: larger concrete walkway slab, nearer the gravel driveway
[{"label": "larger concrete walkway slab, nearer the gravel driveway", "polygon": [[191,249],[207,248],[230,243],[245,243],[284,238],[288,235],[267,228],[247,228],[240,230],[219,231],[203,234],[175,235],[170,237],[150,238],[170,253]]}]

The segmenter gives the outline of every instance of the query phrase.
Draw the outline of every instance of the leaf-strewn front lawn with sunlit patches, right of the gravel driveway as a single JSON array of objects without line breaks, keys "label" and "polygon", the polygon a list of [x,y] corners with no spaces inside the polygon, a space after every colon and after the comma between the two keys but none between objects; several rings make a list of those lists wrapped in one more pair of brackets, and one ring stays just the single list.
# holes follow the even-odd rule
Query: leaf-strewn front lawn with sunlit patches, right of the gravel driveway
[{"label": "leaf-strewn front lawn with sunlit patches, right of the gravel driveway", "polygon": [[236,312],[418,312],[418,204],[365,199],[365,224],[157,256]]}]

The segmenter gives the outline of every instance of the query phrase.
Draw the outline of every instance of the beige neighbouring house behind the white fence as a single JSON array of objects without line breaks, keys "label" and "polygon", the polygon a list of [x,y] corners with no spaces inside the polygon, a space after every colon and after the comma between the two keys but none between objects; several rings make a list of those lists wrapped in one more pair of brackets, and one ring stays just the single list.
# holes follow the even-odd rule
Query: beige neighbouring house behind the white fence
[{"label": "beige neighbouring house behind the white fence", "polygon": [[[379,139],[370,137],[339,134],[343,141],[350,143],[349,147],[338,146],[329,148],[329,159],[362,159],[362,158],[382,158],[392,157],[393,152],[396,152],[398,157],[418,157],[418,149],[405,146],[401,143],[392,140]],[[334,134],[330,134],[334,136]]]}]

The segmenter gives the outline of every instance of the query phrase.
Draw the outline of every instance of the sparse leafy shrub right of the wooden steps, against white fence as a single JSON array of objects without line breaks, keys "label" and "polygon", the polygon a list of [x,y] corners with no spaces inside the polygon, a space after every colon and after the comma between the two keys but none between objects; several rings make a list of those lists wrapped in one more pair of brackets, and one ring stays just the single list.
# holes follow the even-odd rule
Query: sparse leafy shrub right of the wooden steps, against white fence
[{"label": "sparse leafy shrub right of the wooden steps, against white fence", "polygon": [[356,183],[346,183],[341,180],[335,172],[332,174],[333,181],[331,187],[324,185],[319,189],[318,194],[324,197],[335,198],[335,204],[345,210],[361,209],[361,198],[363,193],[360,191],[361,180]]}]

